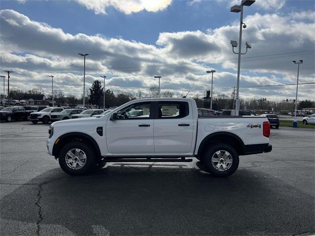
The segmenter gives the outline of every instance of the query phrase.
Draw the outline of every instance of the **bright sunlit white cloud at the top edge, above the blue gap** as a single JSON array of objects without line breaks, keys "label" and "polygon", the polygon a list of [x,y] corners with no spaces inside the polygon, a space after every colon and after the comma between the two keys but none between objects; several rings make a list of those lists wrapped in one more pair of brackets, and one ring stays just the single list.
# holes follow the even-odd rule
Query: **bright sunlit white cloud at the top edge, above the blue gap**
[{"label": "bright sunlit white cloud at the top edge, above the blue gap", "polygon": [[160,11],[167,8],[172,0],[76,0],[95,14],[106,14],[108,7],[114,7],[125,14],[147,11]]}]

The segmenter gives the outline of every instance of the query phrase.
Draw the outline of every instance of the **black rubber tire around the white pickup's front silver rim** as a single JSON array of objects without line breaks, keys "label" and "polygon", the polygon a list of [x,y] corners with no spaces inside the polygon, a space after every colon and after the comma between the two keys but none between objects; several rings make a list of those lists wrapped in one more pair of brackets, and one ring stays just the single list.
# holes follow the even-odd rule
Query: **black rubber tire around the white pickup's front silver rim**
[{"label": "black rubber tire around the white pickup's front silver rim", "polygon": [[[81,149],[86,155],[86,162],[81,169],[71,169],[65,162],[66,154],[71,149]],[[95,152],[94,150],[87,144],[81,141],[72,141],[63,146],[58,155],[59,165],[63,169],[63,171],[71,176],[84,175],[95,169],[96,161],[95,161]]]}]

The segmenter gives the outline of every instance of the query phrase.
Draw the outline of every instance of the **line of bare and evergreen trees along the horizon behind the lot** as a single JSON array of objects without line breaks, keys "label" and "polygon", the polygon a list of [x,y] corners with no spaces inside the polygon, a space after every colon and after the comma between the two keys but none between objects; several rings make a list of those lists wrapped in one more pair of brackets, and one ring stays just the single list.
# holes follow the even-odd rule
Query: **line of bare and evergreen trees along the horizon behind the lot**
[{"label": "line of bare and evergreen trees along the horizon behind the lot", "polygon": [[[13,88],[10,91],[10,98],[14,100],[22,100],[24,94],[44,94],[42,88],[33,88],[27,91]],[[177,95],[177,97],[183,97],[186,94]],[[158,91],[158,87],[151,87],[148,93],[143,93],[141,90],[135,92],[126,92],[119,91],[114,93],[111,89],[106,89],[105,93],[103,87],[101,86],[100,80],[95,80],[90,87],[87,89],[85,103],[90,104],[95,108],[102,108],[103,101],[105,96],[105,108],[109,108],[111,106],[120,106],[128,101],[140,98],[147,97],[174,97],[174,92],[172,91]],[[48,94],[48,100],[52,100],[52,94]],[[192,97],[199,108],[210,108],[210,99],[204,99],[195,95]],[[78,97],[77,95],[68,94],[65,95],[62,90],[54,91],[54,101],[56,104],[60,106],[70,105],[75,106],[78,104],[83,104],[83,95]],[[213,106],[214,110],[220,111],[223,109],[233,109],[233,103],[235,100],[233,99],[233,94],[218,94],[213,97]],[[241,109],[248,110],[272,110],[274,111],[293,111],[294,110],[294,102],[275,102],[260,99],[257,100],[255,98],[251,99],[240,99],[240,107]],[[315,102],[304,100],[298,103],[298,109],[302,108],[314,108]]]}]

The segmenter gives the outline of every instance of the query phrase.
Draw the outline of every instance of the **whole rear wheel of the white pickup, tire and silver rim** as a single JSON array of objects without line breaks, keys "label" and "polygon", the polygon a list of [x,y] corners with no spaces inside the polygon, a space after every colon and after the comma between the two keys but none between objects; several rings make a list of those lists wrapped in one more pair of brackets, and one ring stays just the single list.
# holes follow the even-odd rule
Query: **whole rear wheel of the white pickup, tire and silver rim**
[{"label": "whole rear wheel of the white pickup, tire and silver rim", "polygon": [[238,168],[237,151],[227,144],[213,144],[203,153],[202,163],[206,170],[215,177],[228,177]]}]

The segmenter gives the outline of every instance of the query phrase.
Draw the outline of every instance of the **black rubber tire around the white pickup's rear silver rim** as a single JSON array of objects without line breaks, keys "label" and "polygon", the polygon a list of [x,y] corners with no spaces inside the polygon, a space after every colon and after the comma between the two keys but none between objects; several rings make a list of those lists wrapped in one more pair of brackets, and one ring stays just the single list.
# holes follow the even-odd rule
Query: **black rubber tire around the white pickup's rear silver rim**
[{"label": "black rubber tire around the white pickup's rear silver rim", "polygon": [[[217,170],[212,164],[212,157],[213,156],[217,157],[216,155],[217,151],[222,151],[221,153],[225,151],[230,154],[228,157],[232,159],[232,163],[229,163],[228,166],[224,163],[224,165],[228,167],[227,170],[224,170],[224,171]],[[220,158],[218,159],[220,160]],[[208,150],[204,151],[201,160],[202,160],[202,163],[205,165],[206,171],[215,177],[228,177],[237,170],[238,165],[239,165],[239,157],[238,157],[237,151],[232,146],[223,144],[223,143],[217,143],[217,144],[215,143],[211,145]],[[218,165],[219,165],[219,162],[218,162]],[[220,165],[219,169],[221,167],[223,168],[223,166]]]}]

